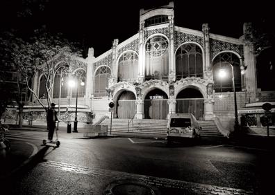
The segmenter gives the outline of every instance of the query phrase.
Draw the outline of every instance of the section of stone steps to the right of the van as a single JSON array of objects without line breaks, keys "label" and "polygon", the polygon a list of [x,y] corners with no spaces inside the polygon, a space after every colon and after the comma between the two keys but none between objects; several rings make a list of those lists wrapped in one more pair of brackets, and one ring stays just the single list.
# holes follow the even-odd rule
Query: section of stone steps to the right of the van
[{"label": "section of stone steps to the right of the van", "polygon": [[198,120],[198,123],[199,127],[201,127],[201,131],[199,131],[201,137],[224,138],[214,120]]}]

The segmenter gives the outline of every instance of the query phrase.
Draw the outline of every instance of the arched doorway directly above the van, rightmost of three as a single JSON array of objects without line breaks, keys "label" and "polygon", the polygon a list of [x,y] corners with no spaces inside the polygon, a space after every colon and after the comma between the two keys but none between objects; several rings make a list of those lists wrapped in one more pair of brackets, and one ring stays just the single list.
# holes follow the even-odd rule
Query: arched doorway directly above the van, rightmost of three
[{"label": "arched doorway directly above the van, rightmost of three", "polygon": [[203,119],[203,95],[193,88],[183,89],[176,96],[176,113],[192,113],[197,120]]}]

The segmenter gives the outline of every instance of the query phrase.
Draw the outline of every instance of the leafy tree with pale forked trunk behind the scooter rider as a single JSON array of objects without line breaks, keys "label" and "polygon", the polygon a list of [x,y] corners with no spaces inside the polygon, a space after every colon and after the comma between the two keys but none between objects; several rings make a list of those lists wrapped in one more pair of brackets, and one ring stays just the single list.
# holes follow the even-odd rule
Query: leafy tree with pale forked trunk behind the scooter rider
[{"label": "leafy tree with pale forked trunk behind the scooter rider", "polygon": [[[48,111],[51,104],[50,94],[53,89],[53,78],[61,66],[63,71],[70,71],[69,67],[65,66],[66,64],[55,66],[54,59],[56,56],[81,55],[81,50],[78,50],[76,43],[70,43],[67,39],[64,39],[62,34],[53,35],[47,32],[45,27],[35,30],[33,36],[27,40],[11,32],[9,33],[10,39],[7,39],[3,45],[6,46],[4,48],[7,56],[2,61],[10,64],[10,68],[15,66],[19,70],[24,79],[24,84],[31,92],[30,94],[33,94],[45,111]],[[44,75],[47,103],[42,102],[33,90],[32,84],[35,74]],[[18,89],[18,92],[22,92],[22,89]],[[19,105],[19,115],[22,117],[24,102],[17,101],[17,104]]]}]

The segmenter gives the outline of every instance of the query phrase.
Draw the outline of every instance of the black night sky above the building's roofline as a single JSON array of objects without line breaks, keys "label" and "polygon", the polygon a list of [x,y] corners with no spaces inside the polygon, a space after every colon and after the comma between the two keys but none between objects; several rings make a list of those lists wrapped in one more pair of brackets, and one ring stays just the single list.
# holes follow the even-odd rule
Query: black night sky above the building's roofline
[{"label": "black night sky above the building's roofline", "polygon": [[[140,8],[149,9],[167,5],[169,0],[46,0],[43,11],[34,11],[24,21],[16,17],[22,2],[30,0],[1,0],[1,27],[20,26],[26,30],[41,24],[63,34],[73,41],[94,48],[98,56],[112,47],[113,39],[119,43],[139,30]],[[41,0],[31,0],[41,1]],[[45,0],[42,0],[45,1]],[[239,38],[244,21],[272,21],[274,6],[270,1],[195,1],[174,0],[175,25],[201,30],[208,23],[210,32]],[[37,7],[33,10],[38,10]],[[23,32],[24,33],[24,32]]]}]

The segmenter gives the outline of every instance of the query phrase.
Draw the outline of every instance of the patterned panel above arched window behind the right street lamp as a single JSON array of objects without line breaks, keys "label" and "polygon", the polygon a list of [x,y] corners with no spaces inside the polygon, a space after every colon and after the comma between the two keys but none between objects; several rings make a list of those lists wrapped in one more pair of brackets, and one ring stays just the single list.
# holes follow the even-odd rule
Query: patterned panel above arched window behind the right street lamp
[{"label": "patterned panel above arched window behind the right street lamp", "polygon": [[210,39],[210,47],[211,47],[211,58],[213,58],[218,53],[224,50],[232,50],[235,53],[238,53],[241,57],[244,56],[244,48],[242,44],[232,44],[225,41],[219,41],[215,39]]}]

